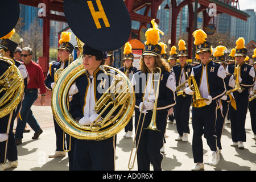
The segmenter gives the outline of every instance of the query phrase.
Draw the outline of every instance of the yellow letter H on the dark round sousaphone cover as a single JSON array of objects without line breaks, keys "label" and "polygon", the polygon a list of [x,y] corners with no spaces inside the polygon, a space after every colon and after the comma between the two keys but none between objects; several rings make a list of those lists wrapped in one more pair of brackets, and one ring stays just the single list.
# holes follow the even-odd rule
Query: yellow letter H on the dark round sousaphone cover
[{"label": "yellow letter H on the dark round sousaphone cover", "polygon": [[97,12],[94,10],[92,1],[87,1],[87,3],[88,3],[88,6],[89,6],[89,9],[90,9],[90,13],[93,16],[93,20],[94,20],[94,23],[96,24],[97,29],[101,28],[100,21],[98,20],[100,18],[103,19],[106,27],[110,27],[109,20],[106,17],[105,11],[104,11],[104,9],[101,5],[101,1],[100,0],[96,1],[97,6],[98,6],[98,10],[99,10]]}]

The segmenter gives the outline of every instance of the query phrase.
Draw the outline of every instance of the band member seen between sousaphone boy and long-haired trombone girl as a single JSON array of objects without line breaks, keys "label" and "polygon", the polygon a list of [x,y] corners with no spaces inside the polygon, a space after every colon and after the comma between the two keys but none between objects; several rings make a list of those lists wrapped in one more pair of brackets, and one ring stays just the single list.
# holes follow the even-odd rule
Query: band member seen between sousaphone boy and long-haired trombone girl
[{"label": "band member seen between sousaphone boy and long-haired trombone girl", "polygon": [[[124,67],[119,68],[125,75],[132,78],[132,75],[137,71],[137,68],[133,67],[133,53],[131,53],[131,44],[127,42],[125,44],[125,48],[123,50],[123,62],[125,64]],[[129,123],[125,126],[125,134],[123,137],[131,138],[133,135],[133,117],[131,117]]]}]

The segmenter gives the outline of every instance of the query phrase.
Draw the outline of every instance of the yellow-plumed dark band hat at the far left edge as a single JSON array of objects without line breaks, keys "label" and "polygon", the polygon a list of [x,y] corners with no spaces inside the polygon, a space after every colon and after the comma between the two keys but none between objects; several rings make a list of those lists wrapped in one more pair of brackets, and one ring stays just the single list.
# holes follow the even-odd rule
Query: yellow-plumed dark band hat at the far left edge
[{"label": "yellow-plumed dark band hat at the far left edge", "polygon": [[15,33],[15,29],[11,30],[9,34],[3,36],[0,41],[0,49],[6,49],[7,51],[14,52],[16,47],[18,46],[17,43],[13,42],[13,40],[10,40],[10,38]]}]

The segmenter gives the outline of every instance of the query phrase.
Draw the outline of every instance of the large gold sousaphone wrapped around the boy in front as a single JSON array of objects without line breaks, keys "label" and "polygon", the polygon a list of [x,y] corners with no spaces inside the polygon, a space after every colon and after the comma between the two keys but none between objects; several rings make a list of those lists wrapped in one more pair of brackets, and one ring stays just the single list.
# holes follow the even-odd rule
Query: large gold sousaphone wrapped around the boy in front
[{"label": "large gold sousaphone wrapped around the boy in front", "polygon": [[[52,90],[53,116],[61,129],[72,137],[86,140],[104,140],[113,137],[127,125],[130,118],[133,116],[135,93],[129,78],[118,69],[106,65],[101,65],[100,69],[104,71],[106,75],[112,75],[113,70],[120,75],[120,77],[112,75],[115,81],[113,81],[109,89],[106,90],[102,97],[96,102],[94,110],[99,114],[98,118],[101,117],[107,107],[113,106],[105,118],[101,117],[101,122],[96,123],[95,121],[98,119],[96,118],[92,125],[82,126],[75,121],[69,113],[69,89],[77,78],[85,74],[85,69],[82,65],[82,56],[73,61],[61,72]],[[106,71],[106,69],[108,71]],[[119,81],[122,81],[122,89],[114,89]],[[109,93],[110,90],[112,92]],[[114,118],[111,118],[112,114],[119,106],[121,106],[121,109],[119,109]],[[99,110],[102,110],[102,112],[99,113]]]}]

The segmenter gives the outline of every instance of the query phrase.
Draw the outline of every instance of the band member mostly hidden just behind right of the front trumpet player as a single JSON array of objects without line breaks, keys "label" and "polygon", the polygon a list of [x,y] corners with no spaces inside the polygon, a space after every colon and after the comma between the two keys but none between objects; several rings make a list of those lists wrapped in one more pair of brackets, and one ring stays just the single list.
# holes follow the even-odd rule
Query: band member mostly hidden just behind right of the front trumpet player
[{"label": "band member mostly hidden just behind right of the front trumpet player", "polygon": [[[219,63],[226,69],[226,63],[225,63],[225,56],[224,56],[224,51],[226,47],[224,46],[217,46],[215,51],[214,51],[214,62]],[[234,88],[234,78],[230,73],[226,72],[226,77],[224,79],[225,85],[227,90],[233,89]],[[224,130],[224,125],[225,125],[225,117],[228,113],[229,110],[229,105],[230,101],[234,100],[233,94],[230,94],[230,96],[222,96],[219,101],[220,107],[217,109],[217,119],[216,119],[216,138],[217,138],[217,146],[218,149],[222,150],[221,146],[221,135]]]}]

